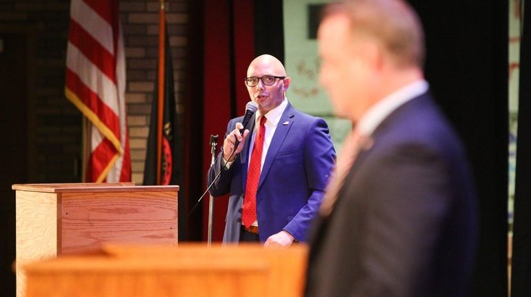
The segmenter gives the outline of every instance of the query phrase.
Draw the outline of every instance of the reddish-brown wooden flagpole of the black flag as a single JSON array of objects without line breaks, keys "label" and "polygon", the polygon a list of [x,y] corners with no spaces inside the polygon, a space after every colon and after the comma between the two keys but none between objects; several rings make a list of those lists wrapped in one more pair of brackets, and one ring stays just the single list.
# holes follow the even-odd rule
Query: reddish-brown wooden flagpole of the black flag
[{"label": "reddish-brown wooden flagpole of the black flag", "polygon": [[165,52],[165,37],[166,37],[166,8],[165,0],[160,0],[159,11],[159,85],[157,98],[157,185],[161,184],[161,159],[162,159],[162,121],[163,121],[163,100],[164,100],[164,55]]}]

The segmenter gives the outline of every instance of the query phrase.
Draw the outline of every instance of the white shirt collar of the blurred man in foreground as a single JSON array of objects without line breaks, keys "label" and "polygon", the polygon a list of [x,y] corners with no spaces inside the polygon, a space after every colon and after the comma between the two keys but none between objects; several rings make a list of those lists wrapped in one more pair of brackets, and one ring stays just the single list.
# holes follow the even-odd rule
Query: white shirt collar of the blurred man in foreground
[{"label": "white shirt collar of the blurred man in foreground", "polygon": [[370,109],[361,116],[357,124],[358,131],[363,135],[371,135],[378,125],[388,117],[394,110],[404,103],[424,94],[428,91],[429,85],[425,80],[414,81],[372,105]]}]

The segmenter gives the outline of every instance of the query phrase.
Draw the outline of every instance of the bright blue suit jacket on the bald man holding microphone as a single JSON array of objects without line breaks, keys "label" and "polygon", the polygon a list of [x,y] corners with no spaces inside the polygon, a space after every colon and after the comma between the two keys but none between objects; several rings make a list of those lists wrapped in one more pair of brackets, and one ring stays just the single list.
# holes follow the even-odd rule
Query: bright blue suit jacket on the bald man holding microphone
[{"label": "bright blue suit jacket on the bald man holding microphone", "polygon": [[[228,123],[229,134],[243,117]],[[250,123],[254,126],[254,116]],[[252,131],[253,127],[250,127]],[[208,172],[208,184],[220,171],[210,189],[212,196],[230,193],[223,242],[237,242],[249,160],[248,136],[243,150],[227,170],[220,153]],[[323,119],[286,106],[265,156],[257,192],[259,237],[263,242],[284,229],[305,241],[308,226],[323,198],[334,166],[335,152]],[[223,169],[222,169],[223,168]]]}]

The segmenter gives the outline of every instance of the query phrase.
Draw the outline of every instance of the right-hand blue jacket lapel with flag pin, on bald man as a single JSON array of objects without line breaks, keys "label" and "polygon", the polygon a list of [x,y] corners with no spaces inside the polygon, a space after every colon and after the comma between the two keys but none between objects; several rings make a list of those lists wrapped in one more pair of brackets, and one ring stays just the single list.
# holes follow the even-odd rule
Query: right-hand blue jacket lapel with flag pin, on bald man
[{"label": "right-hand blue jacket lapel with flag pin, on bald man", "polygon": [[[273,138],[271,139],[271,143],[269,145],[268,154],[265,156],[265,161],[263,162],[262,166],[262,172],[260,173],[260,181],[258,183],[258,188],[263,183],[263,180],[265,179],[265,176],[268,175],[268,172],[271,168],[271,165],[274,161],[275,156],[277,156],[277,153],[279,152],[279,149],[284,142],[285,136],[288,135],[288,132],[290,131],[290,127],[293,124],[293,117],[295,116],[293,107],[290,103],[285,107],[285,110],[280,117],[279,123],[277,123],[277,129],[274,130]],[[283,123],[288,122],[288,125],[284,125]]]}]

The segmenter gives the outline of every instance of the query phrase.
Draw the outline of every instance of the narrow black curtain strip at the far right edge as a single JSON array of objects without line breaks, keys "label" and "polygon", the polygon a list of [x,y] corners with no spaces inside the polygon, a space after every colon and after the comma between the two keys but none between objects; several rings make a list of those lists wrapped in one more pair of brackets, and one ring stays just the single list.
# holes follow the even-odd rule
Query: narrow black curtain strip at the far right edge
[{"label": "narrow black curtain strip at the far right edge", "polygon": [[517,175],[512,241],[513,297],[531,296],[531,3],[526,4],[521,17],[523,26],[520,40]]}]

